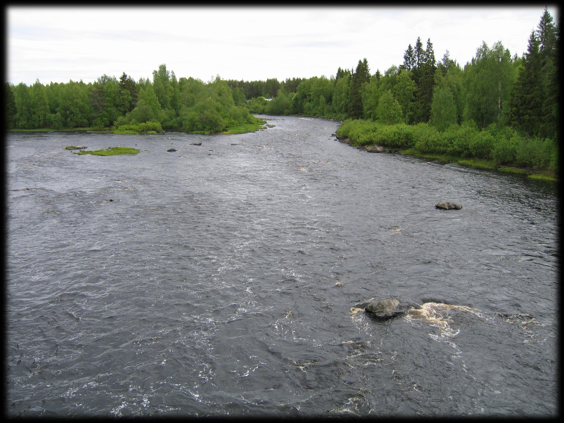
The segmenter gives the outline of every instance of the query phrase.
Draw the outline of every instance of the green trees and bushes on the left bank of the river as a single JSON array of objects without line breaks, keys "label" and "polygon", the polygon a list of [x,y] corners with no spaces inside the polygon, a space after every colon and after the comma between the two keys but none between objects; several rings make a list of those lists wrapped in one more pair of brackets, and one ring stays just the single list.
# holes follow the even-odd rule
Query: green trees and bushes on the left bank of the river
[{"label": "green trees and bushes on the left bank of the river", "polygon": [[[112,127],[120,134],[150,134],[162,130],[218,133],[227,127],[258,125],[249,114],[244,92],[219,77],[208,83],[177,80],[162,64],[152,82],[138,82],[124,72],[117,80],[103,75],[94,83],[69,81],[42,85],[36,81],[5,86],[8,129],[62,130]],[[262,113],[258,111],[258,113]]]}]

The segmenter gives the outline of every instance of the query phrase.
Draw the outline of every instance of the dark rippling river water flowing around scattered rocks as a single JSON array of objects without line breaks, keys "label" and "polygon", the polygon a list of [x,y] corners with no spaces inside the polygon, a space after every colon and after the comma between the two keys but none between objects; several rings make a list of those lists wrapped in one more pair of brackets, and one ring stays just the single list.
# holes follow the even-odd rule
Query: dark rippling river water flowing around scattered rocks
[{"label": "dark rippling river water flowing around scattered rocks", "polygon": [[6,136],[7,415],[557,415],[554,184],[266,118]]}]

